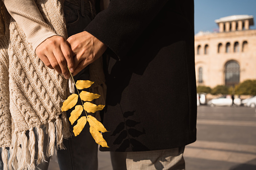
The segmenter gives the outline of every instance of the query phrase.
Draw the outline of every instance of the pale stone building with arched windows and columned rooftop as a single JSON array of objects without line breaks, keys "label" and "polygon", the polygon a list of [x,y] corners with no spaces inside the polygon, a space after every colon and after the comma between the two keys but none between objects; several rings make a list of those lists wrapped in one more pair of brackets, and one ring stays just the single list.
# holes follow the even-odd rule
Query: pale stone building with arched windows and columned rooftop
[{"label": "pale stone building with arched windows and columned rooftop", "polygon": [[219,32],[195,35],[197,85],[235,85],[256,79],[256,30],[253,16],[236,15],[215,20]]}]

